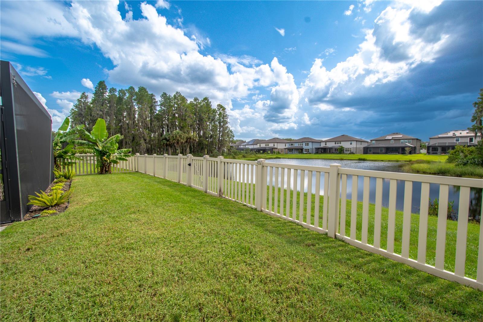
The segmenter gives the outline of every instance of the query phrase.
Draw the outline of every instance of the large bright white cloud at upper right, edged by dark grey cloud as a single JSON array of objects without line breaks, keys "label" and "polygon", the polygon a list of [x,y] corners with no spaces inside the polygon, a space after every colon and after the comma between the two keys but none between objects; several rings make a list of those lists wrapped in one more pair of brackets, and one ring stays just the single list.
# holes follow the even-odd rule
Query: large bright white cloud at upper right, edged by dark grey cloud
[{"label": "large bright white cloud at upper right, edged by dark grey cloud", "polygon": [[[331,70],[315,59],[300,92],[314,105],[334,95],[354,89],[391,82],[422,62],[431,62],[446,44],[447,35],[426,42],[411,33],[410,13],[414,7],[387,7],[375,20],[374,29],[366,30],[365,41],[357,53]],[[426,9],[427,10],[427,9]],[[325,107],[326,108],[326,107]]]}]

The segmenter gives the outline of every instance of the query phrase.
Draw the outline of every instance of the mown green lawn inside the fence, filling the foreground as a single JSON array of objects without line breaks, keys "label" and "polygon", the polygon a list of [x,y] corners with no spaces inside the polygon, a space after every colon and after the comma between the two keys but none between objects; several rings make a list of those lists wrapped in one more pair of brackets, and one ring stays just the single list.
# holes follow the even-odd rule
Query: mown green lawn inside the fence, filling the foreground
[{"label": "mown green lawn inside the fence, filling the foreground", "polygon": [[0,233],[2,321],[480,321],[483,293],[139,173]]}]

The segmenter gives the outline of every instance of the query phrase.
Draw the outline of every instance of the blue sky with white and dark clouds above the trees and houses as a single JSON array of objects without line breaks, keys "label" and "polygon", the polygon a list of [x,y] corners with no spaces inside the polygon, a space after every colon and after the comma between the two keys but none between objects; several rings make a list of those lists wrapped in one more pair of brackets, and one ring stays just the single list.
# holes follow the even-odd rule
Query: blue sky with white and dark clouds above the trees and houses
[{"label": "blue sky with white and dark clouds above the trees and houses", "polygon": [[0,56],[53,115],[82,91],[208,96],[236,138],[470,126],[482,1],[2,1]]}]

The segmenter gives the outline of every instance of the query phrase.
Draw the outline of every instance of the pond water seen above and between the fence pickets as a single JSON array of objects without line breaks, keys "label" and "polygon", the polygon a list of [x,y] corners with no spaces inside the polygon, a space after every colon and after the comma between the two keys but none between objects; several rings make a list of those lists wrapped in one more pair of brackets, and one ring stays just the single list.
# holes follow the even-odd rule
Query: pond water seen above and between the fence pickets
[{"label": "pond water seen above and between the fence pickets", "polygon": [[[387,172],[403,172],[398,162],[384,162],[384,161],[357,161],[357,160],[329,160],[329,159],[273,159],[267,160],[267,163],[284,163],[284,164],[299,164],[299,165],[311,165],[328,167],[332,163],[341,164],[342,168],[359,169],[359,170],[373,170],[373,171],[387,171]],[[304,191],[307,191],[307,175],[304,180]],[[280,176],[280,175],[279,175]],[[297,174],[298,187],[300,187],[300,171]],[[358,180],[357,182],[357,200],[362,201],[362,191],[364,189],[364,180]],[[286,180],[285,180],[286,182]],[[293,187],[293,178],[291,178],[291,187]],[[320,193],[323,193],[325,184],[324,176],[320,179]],[[285,187],[286,188],[286,183]],[[315,191],[315,180],[312,180],[312,191]],[[376,178],[370,178],[370,193],[369,203],[375,203],[375,190],[376,190]],[[352,176],[347,176],[347,199],[351,199],[352,195]],[[435,198],[439,198],[439,185],[430,184],[429,197],[432,201]],[[448,202],[454,202],[453,215],[451,219],[456,220],[459,206],[459,187],[450,186]],[[419,206],[421,203],[421,183],[414,182],[412,187],[412,213],[419,213]],[[383,206],[389,205],[389,179],[383,180]],[[470,193],[470,205],[469,205],[469,218],[471,220],[480,221],[482,206],[482,190],[471,189]],[[396,209],[402,211],[404,207],[404,181],[398,180],[397,183],[397,199]]]}]

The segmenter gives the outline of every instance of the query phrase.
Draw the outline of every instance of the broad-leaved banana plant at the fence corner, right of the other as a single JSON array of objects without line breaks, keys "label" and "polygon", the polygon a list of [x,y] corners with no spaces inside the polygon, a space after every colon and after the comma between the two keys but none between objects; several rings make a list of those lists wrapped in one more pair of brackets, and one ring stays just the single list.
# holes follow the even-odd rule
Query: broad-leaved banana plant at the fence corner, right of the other
[{"label": "broad-leaved banana plant at the fence corner, right of the other", "polygon": [[117,149],[119,141],[123,138],[121,134],[115,134],[108,138],[106,121],[98,118],[96,124],[89,133],[84,130],[85,140],[74,140],[77,150],[83,153],[93,153],[96,155],[96,169],[99,175],[111,173],[113,164],[119,161],[128,161],[132,156],[131,149]]}]

